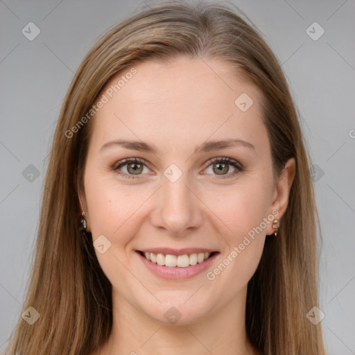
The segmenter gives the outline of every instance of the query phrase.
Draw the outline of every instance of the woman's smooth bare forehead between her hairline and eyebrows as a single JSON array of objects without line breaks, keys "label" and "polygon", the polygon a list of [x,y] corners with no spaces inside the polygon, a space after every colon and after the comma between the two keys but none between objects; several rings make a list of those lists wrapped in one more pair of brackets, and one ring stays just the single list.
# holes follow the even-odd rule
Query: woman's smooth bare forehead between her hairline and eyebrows
[{"label": "woman's smooth bare forehead between her hairline and eyebrows", "polygon": [[95,142],[129,136],[162,142],[168,149],[190,146],[211,135],[252,139],[266,134],[261,132],[265,128],[259,89],[240,80],[222,60],[149,60],[134,69],[116,75],[101,92],[99,97],[104,95],[107,102],[93,120]]}]

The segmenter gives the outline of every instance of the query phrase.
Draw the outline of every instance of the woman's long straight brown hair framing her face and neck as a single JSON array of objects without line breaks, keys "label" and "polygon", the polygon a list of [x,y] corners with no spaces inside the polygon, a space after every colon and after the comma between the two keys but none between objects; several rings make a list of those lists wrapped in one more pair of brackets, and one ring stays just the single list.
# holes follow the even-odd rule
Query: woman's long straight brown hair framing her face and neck
[{"label": "woman's long straight brown hair framing her face and neck", "polygon": [[88,119],[72,128],[83,123],[114,75],[144,60],[179,55],[225,60],[257,85],[275,173],[287,159],[296,161],[279,233],[266,239],[248,284],[248,337],[263,354],[324,354],[321,326],[306,318],[318,306],[319,254],[309,156],[281,65],[243,17],[218,3],[160,3],[114,26],[87,53],[62,105],[46,173],[23,307],[32,306],[40,318],[33,325],[19,318],[5,354],[87,355],[110,335],[112,286],[98,264],[91,234],[78,230],[78,189],[83,187],[91,124]]}]

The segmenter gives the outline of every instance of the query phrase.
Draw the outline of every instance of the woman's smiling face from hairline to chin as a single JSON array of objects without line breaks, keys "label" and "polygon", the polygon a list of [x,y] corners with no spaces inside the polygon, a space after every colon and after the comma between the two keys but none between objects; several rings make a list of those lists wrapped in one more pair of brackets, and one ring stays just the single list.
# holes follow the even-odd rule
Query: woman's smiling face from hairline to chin
[{"label": "woman's smiling face from hairline to chin", "polygon": [[87,230],[117,304],[188,324],[245,299],[288,182],[273,179],[259,91],[225,62],[135,69],[89,123]]}]

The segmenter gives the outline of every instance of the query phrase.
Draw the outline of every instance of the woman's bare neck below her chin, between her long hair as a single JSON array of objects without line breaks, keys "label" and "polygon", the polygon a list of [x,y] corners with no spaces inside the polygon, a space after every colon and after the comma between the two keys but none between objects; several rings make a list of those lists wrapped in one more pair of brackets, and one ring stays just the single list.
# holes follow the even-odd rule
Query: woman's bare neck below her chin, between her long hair
[{"label": "woman's bare neck below her chin, between her long hair", "polygon": [[259,354],[245,331],[246,288],[235,300],[189,324],[159,322],[112,292],[112,332],[100,355]]}]

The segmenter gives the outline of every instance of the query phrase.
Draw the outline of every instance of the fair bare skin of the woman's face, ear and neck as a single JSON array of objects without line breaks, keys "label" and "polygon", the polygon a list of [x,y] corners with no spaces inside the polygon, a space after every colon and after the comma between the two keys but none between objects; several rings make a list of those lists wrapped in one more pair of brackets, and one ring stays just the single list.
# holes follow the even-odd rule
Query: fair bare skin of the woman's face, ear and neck
[{"label": "fair bare skin of the woman's face, ear and neck", "polygon": [[[266,236],[274,232],[272,223],[212,281],[206,272],[191,279],[161,279],[135,250],[209,248],[220,253],[208,269],[214,270],[263,218],[272,211],[283,216],[295,161],[290,159],[284,173],[274,177],[261,94],[231,76],[225,62],[175,58],[135,68],[135,76],[90,122],[80,193],[93,240],[103,234],[111,243],[103,254],[95,250],[112,283],[114,317],[112,334],[96,354],[259,354],[245,334],[245,300]],[[254,101],[246,112],[234,104],[242,93]],[[228,138],[243,139],[254,148],[193,154],[207,140]],[[115,139],[155,144],[158,153],[121,146],[101,151]],[[129,157],[146,162],[135,180],[111,168]],[[218,174],[214,157],[235,159],[243,171],[232,175],[236,168],[227,165],[229,171]],[[182,171],[176,182],[164,176],[171,164]],[[134,175],[134,169],[121,166],[121,173]],[[223,179],[225,175],[230,178]],[[175,324],[164,317],[171,307],[181,314]]]}]

